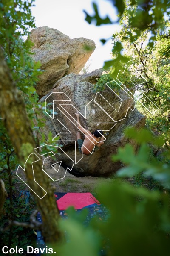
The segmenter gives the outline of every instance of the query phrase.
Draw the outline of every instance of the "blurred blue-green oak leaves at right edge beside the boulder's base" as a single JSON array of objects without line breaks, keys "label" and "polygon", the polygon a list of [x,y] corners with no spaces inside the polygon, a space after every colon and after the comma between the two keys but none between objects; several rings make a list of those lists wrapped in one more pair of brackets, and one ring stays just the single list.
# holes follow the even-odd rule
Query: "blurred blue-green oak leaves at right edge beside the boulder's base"
[{"label": "blurred blue-green oak leaves at right edge beside the boulder's base", "polygon": [[133,138],[141,146],[137,154],[134,153],[130,144],[118,149],[118,154],[113,156],[113,161],[120,160],[127,166],[119,170],[116,175],[118,177],[133,177],[143,173],[145,177],[151,176],[159,181],[164,188],[170,188],[170,152],[165,152],[167,163],[161,163],[155,157],[150,157],[150,148],[147,145],[147,142],[152,142],[163,146],[164,140],[155,138],[145,129],[140,132],[134,129],[127,129],[125,134],[128,138]]}]

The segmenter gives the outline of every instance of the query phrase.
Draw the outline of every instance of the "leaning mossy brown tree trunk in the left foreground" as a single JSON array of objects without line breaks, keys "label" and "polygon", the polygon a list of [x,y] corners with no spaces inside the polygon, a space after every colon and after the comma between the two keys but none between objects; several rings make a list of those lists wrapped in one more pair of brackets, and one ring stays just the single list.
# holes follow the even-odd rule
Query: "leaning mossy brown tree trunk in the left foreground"
[{"label": "leaning mossy brown tree trunk in the left foreground", "polygon": [[[36,148],[33,132],[31,130],[28,115],[20,92],[12,80],[10,70],[4,59],[3,50],[0,47],[0,115],[11,138],[15,153],[20,165],[24,165],[28,156]],[[37,161],[35,154],[31,155],[31,162]],[[54,191],[47,175],[42,171],[42,161],[34,165],[32,171],[31,162],[25,169],[30,188],[39,195],[35,200],[42,216],[42,235],[45,241],[53,243],[61,238],[58,229],[59,210],[54,199]],[[37,182],[34,181],[34,175]],[[47,192],[44,194],[44,190]],[[45,196],[44,196],[45,195]],[[42,198],[43,197],[43,198]],[[42,198],[42,199],[40,199]]]}]

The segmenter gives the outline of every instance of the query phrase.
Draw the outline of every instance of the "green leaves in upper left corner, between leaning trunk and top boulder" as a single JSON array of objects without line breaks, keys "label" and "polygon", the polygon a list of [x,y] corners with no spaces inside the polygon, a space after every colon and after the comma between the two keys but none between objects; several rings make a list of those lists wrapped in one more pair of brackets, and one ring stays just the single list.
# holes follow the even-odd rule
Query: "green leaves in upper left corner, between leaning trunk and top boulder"
[{"label": "green leaves in upper left corner, between leaning trunk and top boulder", "polygon": [[0,45],[13,80],[25,96],[28,111],[38,100],[34,87],[42,74],[40,62],[31,58],[32,42],[29,39],[23,41],[23,36],[28,36],[29,27],[35,27],[31,15],[33,3],[34,0],[0,0]]}]

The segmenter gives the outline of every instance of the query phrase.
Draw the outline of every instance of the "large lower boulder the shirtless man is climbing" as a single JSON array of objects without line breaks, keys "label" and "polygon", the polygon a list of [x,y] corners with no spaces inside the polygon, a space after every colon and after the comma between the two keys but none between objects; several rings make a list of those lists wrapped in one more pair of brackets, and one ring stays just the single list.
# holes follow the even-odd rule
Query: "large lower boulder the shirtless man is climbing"
[{"label": "large lower boulder the shirtless man is climbing", "polygon": [[[62,161],[62,167],[71,168],[72,159],[74,165],[71,173],[77,176],[109,176],[121,168],[121,163],[113,163],[111,156],[117,152],[119,146],[124,146],[127,142],[123,130],[127,126],[140,128],[145,124],[145,117],[134,109],[135,102],[126,91],[120,88],[115,92],[108,86],[101,93],[94,91],[96,78],[101,74],[102,70],[85,75],[69,74],[57,81],[51,92],[40,100],[53,103],[47,107],[48,114],[37,117],[46,120],[43,132],[46,137],[49,131],[54,138],[59,135],[60,141],[56,141],[56,145],[62,145],[64,151],[56,155],[56,161],[53,163]],[[76,111],[80,112],[80,123],[85,129],[91,132],[95,129],[109,132],[102,147],[91,156],[79,153]],[[82,134],[82,139],[83,137]],[[138,149],[136,144],[134,149]]]}]

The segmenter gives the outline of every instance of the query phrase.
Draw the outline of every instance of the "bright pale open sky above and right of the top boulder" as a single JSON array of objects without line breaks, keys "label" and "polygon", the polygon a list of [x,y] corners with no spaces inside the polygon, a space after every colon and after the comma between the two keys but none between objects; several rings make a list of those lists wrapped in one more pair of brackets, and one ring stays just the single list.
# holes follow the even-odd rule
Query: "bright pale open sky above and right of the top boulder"
[{"label": "bright pale open sky above and right of the top boulder", "polygon": [[[95,3],[99,5],[103,18],[108,14],[112,20],[116,19],[116,9],[109,0],[96,0]],[[57,29],[71,39],[85,37],[94,40],[96,50],[89,59],[90,71],[102,68],[104,61],[111,59],[112,41],[109,40],[102,46],[99,40],[111,37],[113,32],[119,29],[119,25],[89,25],[85,21],[83,9],[93,14],[91,0],[35,0],[34,4],[32,14],[37,27],[48,26]]]}]

